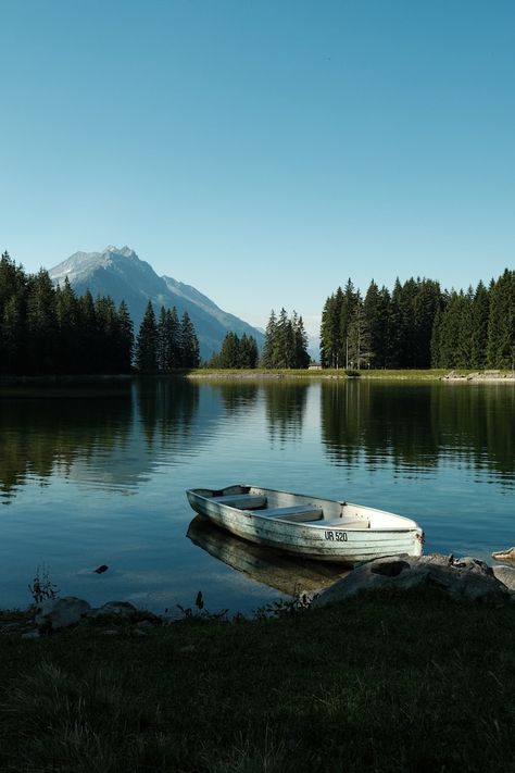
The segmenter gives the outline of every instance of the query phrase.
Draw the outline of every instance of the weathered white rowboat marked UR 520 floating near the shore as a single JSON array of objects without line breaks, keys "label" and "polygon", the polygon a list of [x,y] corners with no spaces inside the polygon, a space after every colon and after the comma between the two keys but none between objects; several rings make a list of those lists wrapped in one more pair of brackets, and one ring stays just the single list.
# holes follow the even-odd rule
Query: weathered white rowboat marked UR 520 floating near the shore
[{"label": "weathered white rowboat marked UR 520 floating near the shore", "polygon": [[316,561],[422,556],[415,521],[361,504],[259,486],[190,488],[191,508],[238,537]]}]

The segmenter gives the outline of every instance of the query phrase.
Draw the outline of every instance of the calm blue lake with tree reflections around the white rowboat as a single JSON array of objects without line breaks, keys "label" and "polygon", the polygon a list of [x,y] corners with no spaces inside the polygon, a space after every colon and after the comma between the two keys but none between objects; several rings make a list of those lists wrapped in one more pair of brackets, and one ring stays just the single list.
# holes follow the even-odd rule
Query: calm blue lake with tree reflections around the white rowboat
[{"label": "calm blue lake with tree reflections around the white rowboat", "polygon": [[[250,483],[415,519],[425,552],[511,547],[515,384],[155,379],[0,388],[0,607],[62,596],[249,614],[332,582],[209,529],[185,489]],[[96,574],[95,568],[109,570]]]}]

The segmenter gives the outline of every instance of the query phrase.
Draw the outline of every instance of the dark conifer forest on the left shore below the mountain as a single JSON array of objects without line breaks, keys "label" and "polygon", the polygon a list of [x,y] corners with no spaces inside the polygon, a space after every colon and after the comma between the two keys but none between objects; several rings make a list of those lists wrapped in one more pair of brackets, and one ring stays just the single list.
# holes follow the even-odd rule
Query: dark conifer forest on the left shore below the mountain
[{"label": "dark conifer forest on the left shore below the mountain", "polygon": [[[150,310],[149,310],[150,307]],[[0,375],[83,375],[167,372],[199,365],[199,341],[187,314],[155,320],[149,303],[135,338],[125,301],[77,296],[67,278],[26,274],[8,252],[0,258]]]}]

